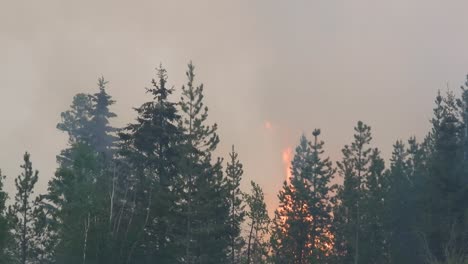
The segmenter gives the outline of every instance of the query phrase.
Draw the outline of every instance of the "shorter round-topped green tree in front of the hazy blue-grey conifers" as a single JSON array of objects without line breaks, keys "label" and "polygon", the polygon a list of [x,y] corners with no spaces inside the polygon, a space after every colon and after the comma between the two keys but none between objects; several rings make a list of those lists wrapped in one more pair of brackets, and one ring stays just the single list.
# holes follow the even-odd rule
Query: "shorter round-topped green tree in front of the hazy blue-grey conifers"
[{"label": "shorter round-topped green tree in front of the hazy blue-grey conifers", "polygon": [[49,210],[38,213],[56,222],[52,227],[57,228],[55,259],[58,262],[94,263],[99,252],[92,234],[99,232],[95,228],[102,219],[95,185],[98,158],[87,144],[78,143],[69,153],[72,164],[57,170],[49,182],[47,195],[41,199],[43,205],[48,205],[44,208]]}]

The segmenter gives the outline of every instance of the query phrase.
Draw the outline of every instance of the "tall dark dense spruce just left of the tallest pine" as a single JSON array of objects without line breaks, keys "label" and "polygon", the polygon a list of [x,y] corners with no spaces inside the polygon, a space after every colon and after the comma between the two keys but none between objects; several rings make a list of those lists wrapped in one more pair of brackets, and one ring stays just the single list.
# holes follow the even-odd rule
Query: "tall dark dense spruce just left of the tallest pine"
[{"label": "tall dark dense spruce just left of the tallest pine", "polygon": [[169,101],[166,70],[157,69],[157,80],[147,89],[152,100],[136,108],[137,122],[120,133],[121,155],[134,171],[127,183],[134,195],[132,214],[127,219],[128,263],[175,263],[181,248],[175,241],[176,217],[173,192],[179,174],[179,145],[182,132],[176,104]]}]

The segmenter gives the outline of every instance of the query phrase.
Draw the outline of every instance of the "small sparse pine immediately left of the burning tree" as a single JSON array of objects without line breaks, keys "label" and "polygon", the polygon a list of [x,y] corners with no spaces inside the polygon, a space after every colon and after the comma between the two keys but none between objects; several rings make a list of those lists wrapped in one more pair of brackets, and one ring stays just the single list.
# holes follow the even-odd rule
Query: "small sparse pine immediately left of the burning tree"
[{"label": "small sparse pine immediately left of the burning tree", "polygon": [[266,240],[269,232],[270,217],[265,204],[263,190],[260,185],[251,181],[250,194],[245,194],[245,202],[249,208],[246,212],[248,218],[249,234],[245,259],[247,264],[267,263],[269,243]]}]

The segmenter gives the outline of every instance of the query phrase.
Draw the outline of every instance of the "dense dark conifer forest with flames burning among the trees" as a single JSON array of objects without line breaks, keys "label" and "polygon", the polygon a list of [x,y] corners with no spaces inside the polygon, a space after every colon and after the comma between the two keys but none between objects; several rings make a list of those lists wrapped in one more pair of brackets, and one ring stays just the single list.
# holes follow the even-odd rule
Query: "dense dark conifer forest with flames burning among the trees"
[{"label": "dense dark conifer forest with flames burning among the trees", "polygon": [[110,125],[103,77],[77,94],[57,124],[68,144],[47,192],[34,192],[34,155],[15,192],[0,173],[0,263],[468,263],[468,81],[435,95],[431,130],[396,140],[387,162],[364,122],[337,162],[320,129],[303,135],[271,219],[261,186],[241,190],[235,147],[215,156],[192,63],[186,78],[173,98],[157,68],[123,128]]}]

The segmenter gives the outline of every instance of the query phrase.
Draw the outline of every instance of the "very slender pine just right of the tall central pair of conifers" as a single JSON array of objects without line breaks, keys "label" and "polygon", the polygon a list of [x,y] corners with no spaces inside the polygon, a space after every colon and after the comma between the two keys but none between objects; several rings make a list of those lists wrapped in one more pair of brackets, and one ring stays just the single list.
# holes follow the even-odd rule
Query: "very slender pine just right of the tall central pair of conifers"
[{"label": "very slender pine just right of the tall central pair of conifers", "polygon": [[240,182],[242,179],[243,169],[242,164],[238,159],[238,154],[232,146],[232,151],[229,153],[230,162],[226,167],[227,187],[229,190],[229,239],[230,239],[230,260],[232,264],[240,263],[240,251],[244,246],[245,241],[241,237],[241,225],[244,222],[245,212],[242,201],[242,192],[240,190]]}]

